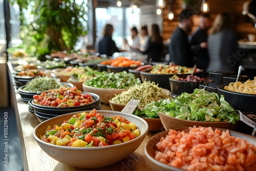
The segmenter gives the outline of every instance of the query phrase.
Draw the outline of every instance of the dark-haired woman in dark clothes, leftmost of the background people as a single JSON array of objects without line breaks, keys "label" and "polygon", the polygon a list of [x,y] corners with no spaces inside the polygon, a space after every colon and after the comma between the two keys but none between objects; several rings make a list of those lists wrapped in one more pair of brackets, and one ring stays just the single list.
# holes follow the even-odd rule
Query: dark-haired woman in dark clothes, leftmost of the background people
[{"label": "dark-haired woman in dark clothes, leftmost of the background people", "polygon": [[115,52],[122,52],[116,47],[115,41],[112,39],[114,28],[111,24],[106,24],[102,32],[102,38],[98,42],[97,52],[102,55],[112,56]]}]

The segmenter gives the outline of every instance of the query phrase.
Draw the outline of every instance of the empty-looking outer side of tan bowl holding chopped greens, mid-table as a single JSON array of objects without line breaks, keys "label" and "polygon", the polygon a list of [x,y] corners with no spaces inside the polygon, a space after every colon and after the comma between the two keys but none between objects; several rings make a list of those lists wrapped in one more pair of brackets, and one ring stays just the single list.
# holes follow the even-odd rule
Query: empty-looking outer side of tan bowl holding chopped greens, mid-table
[{"label": "empty-looking outer side of tan bowl holding chopped greens, mid-table", "polygon": [[86,84],[82,84],[82,88],[84,92],[90,92],[97,94],[102,103],[109,104],[109,100],[113,98],[115,95],[122,93],[123,91],[127,91],[128,89],[103,89],[103,88],[95,88],[91,86],[86,86]]}]

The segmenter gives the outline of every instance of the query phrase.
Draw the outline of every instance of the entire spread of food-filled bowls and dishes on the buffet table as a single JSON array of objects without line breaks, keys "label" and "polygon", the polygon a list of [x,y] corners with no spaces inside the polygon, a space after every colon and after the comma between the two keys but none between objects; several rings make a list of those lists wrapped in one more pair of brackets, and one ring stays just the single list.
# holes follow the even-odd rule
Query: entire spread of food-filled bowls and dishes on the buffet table
[{"label": "entire spread of food-filled bowls and dishes on the buffet table", "polygon": [[[217,80],[203,77],[201,69],[146,65],[123,56],[100,57],[93,63],[97,70],[71,67],[68,57],[81,62],[90,55],[51,54],[59,59],[48,61],[58,62],[55,67],[38,61],[11,63],[13,85],[41,122],[34,139],[53,159],[74,167],[106,167],[134,153],[150,131],[157,134],[144,148],[147,169],[255,168],[256,138],[233,131],[243,121],[241,114],[255,113],[256,77],[221,84],[234,73],[212,72],[221,75]],[[120,112],[130,100],[139,100],[132,114]],[[101,111],[102,104],[112,111]],[[99,162],[99,152],[109,157]]]}]

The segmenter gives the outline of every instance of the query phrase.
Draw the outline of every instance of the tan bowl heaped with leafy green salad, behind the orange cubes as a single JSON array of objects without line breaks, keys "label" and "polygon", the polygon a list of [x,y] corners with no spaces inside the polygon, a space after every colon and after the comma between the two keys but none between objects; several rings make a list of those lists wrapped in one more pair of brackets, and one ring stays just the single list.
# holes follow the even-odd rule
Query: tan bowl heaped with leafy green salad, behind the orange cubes
[{"label": "tan bowl heaped with leafy green salad, behind the orange cubes", "polygon": [[165,128],[212,126],[236,130],[240,120],[237,110],[224,96],[195,89],[191,94],[182,93],[159,107],[159,117]]}]

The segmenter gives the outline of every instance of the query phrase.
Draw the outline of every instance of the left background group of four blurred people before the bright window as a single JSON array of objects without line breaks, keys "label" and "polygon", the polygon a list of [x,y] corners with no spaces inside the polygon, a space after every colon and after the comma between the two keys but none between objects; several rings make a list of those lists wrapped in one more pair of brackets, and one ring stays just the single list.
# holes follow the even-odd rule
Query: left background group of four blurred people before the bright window
[{"label": "left background group of four blurred people before the bright window", "polygon": [[[111,24],[105,25],[102,38],[98,42],[98,53],[112,56],[115,52],[126,51],[116,47],[115,41],[112,39],[113,31],[114,28]],[[129,44],[127,40],[124,39],[125,45],[129,46],[129,51],[146,55],[147,61],[151,60],[160,62],[163,51],[163,38],[160,34],[159,26],[156,24],[151,26],[151,35],[148,35],[147,26],[141,27],[141,36],[138,35],[138,30],[136,27],[131,29],[131,33],[131,44]]]}]

